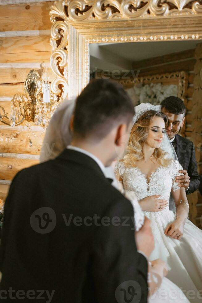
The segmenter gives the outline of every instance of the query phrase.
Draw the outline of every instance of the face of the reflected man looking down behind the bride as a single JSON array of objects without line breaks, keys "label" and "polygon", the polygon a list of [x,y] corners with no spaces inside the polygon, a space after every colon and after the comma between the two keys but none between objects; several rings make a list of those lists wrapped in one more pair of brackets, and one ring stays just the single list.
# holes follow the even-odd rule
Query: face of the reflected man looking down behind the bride
[{"label": "face of the reflected man looking down behind the bride", "polygon": [[166,126],[166,133],[170,139],[173,139],[177,133],[179,133],[181,127],[184,124],[184,115],[183,114],[173,114],[166,111],[165,108],[161,109],[168,118],[168,125]]}]

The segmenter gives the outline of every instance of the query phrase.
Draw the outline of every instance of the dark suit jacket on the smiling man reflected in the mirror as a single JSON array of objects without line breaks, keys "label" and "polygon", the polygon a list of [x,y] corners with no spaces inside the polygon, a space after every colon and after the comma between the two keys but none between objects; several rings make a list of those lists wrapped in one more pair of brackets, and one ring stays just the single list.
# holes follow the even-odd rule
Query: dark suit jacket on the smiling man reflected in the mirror
[{"label": "dark suit jacket on the smiling man reflected in the mirror", "polygon": [[194,145],[190,140],[183,138],[178,134],[175,135],[175,142],[175,152],[178,156],[179,163],[182,165],[183,169],[187,170],[190,177],[189,189],[186,190],[186,194],[191,194],[196,191],[200,185]]}]

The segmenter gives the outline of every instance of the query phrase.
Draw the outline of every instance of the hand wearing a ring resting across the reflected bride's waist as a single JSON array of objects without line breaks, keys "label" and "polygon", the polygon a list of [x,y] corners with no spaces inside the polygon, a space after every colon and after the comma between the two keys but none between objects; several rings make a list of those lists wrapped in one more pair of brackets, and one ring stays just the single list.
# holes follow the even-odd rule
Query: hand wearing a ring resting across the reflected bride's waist
[{"label": "hand wearing a ring resting across the reflected bride's waist", "polygon": [[139,204],[143,211],[162,211],[168,202],[165,199],[158,199],[161,195],[148,196],[141,201]]}]

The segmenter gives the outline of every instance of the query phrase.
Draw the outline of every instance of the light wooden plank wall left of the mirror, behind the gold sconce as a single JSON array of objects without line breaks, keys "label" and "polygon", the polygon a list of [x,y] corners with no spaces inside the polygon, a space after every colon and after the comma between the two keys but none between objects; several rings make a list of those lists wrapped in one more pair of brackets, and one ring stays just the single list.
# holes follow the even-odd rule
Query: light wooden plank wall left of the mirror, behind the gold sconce
[{"label": "light wooden plank wall left of the mirror, behind the gold sconce", "polygon": [[[41,74],[42,62],[50,67],[52,23],[49,11],[52,4],[52,1],[26,1],[0,5],[0,106],[8,113],[14,94],[23,92],[28,72],[36,69]],[[54,75],[50,68],[49,72],[52,80]],[[15,174],[39,162],[43,129],[33,124],[31,147],[27,131],[18,133],[24,125],[12,128],[0,122],[0,198],[3,199]]]}]

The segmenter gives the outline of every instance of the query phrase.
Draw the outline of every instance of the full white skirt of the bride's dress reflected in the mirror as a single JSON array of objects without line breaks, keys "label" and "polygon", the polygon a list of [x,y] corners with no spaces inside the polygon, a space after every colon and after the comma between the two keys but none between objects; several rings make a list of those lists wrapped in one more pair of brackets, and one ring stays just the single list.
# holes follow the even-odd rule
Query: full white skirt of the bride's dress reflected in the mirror
[{"label": "full white skirt of the bride's dress reflected in the mirror", "polygon": [[149,260],[165,261],[169,266],[166,278],[181,288],[191,303],[202,303],[199,292],[202,290],[202,231],[186,220],[183,237],[176,240],[164,234],[168,224],[175,220],[172,211],[166,208],[161,212],[144,211],[144,214],[151,221],[155,241]]}]

